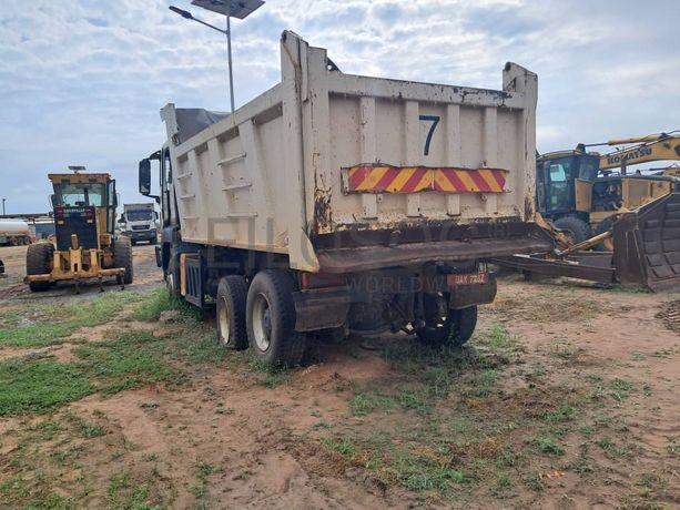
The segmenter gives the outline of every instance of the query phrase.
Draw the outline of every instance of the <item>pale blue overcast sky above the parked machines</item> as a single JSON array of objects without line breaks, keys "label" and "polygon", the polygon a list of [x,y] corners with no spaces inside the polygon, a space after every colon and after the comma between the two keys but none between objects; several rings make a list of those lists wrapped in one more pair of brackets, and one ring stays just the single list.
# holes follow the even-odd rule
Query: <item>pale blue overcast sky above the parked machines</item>
[{"label": "pale blue overcast sky above the parked machines", "polygon": [[[109,171],[124,202],[159,110],[227,110],[224,39],[169,0],[0,0],[0,196],[48,210],[48,172]],[[224,18],[174,4],[209,21]],[[500,89],[539,76],[538,150],[680,129],[676,0],[268,0],[234,21],[236,105],[280,80],[291,29],[348,73]]]}]

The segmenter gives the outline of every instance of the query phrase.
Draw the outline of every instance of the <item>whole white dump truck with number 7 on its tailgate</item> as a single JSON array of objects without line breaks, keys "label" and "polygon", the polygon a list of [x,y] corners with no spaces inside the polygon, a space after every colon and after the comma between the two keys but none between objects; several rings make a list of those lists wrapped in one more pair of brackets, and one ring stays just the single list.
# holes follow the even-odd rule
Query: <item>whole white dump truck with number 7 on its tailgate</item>
[{"label": "whole white dump truck with number 7 on its tailgate", "polygon": [[463,345],[496,296],[485,261],[550,246],[532,223],[536,74],[507,63],[501,90],[345,74],[291,31],[281,73],[231,114],[161,110],[168,142],[139,185],[161,204],[169,290],[271,365],[300,364],[318,332]]}]

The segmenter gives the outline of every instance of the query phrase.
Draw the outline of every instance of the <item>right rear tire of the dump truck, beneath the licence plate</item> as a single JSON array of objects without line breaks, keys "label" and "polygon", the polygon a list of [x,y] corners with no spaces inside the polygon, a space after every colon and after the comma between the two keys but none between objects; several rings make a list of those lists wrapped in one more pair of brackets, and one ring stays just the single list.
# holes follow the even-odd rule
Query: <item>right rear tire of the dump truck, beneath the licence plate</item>
[{"label": "right rear tire of the dump truck, beneath the licence plate", "polygon": [[470,339],[477,326],[477,306],[444,310],[442,299],[444,304],[447,300],[443,296],[426,294],[423,299],[426,324],[416,329],[420,341],[435,347],[460,347]]}]

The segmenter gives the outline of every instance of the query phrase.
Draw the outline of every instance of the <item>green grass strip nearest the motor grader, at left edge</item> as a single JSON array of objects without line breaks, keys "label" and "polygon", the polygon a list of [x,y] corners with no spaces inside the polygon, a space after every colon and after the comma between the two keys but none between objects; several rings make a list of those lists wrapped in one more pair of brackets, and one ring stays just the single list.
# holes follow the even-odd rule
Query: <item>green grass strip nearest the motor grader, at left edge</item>
[{"label": "green grass strip nearest the motor grader, at left edge", "polygon": [[0,346],[14,348],[62,344],[78,329],[108,323],[125,305],[139,303],[144,294],[108,292],[89,302],[47,307],[39,313],[27,307],[0,318]]}]

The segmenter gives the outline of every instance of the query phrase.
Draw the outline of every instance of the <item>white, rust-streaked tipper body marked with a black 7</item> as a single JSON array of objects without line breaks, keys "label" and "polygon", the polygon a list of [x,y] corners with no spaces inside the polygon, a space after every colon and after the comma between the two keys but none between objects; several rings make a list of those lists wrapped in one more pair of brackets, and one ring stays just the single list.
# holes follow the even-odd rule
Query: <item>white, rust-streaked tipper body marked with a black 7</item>
[{"label": "white, rust-streaked tipper body marked with a black 7", "polygon": [[536,74],[508,63],[500,90],[344,74],[293,32],[281,67],[233,114],[162,110],[184,242],[314,273],[337,268],[317,239],[343,232],[532,221]]}]

